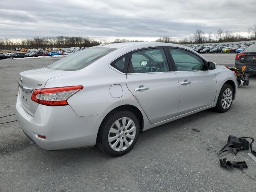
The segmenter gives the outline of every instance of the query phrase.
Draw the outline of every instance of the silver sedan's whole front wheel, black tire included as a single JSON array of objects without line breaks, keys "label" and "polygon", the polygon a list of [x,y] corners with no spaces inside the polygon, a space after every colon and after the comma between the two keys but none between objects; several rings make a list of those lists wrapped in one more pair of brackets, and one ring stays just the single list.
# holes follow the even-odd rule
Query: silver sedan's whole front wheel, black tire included
[{"label": "silver sedan's whole front wheel, black tire included", "polygon": [[230,84],[224,84],[220,90],[216,110],[220,113],[227,112],[233,102],[234,91]]}]

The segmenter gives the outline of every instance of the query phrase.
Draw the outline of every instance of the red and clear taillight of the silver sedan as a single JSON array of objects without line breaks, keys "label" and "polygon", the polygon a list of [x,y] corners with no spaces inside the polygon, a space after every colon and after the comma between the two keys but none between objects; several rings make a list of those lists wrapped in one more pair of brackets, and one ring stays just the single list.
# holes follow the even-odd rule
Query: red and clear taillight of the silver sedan
[{"label": "red and clear taillight of the silver sedan", "polygon": [[80,86],[54,87],[36,89],[32,93],[31,100],[42,105],[62,106],[68,105],[68,98],[84,88]]}]

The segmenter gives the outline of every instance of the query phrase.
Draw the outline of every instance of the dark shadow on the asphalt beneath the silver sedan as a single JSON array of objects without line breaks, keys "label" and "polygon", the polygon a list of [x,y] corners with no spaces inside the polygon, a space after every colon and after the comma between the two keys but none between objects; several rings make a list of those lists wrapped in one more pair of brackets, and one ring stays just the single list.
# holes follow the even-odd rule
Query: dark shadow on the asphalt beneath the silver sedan
[{"label": "dark shadow on the asphalt beneath the silver sedan", "polygon": [[[132,151],[124,156],[118,158],[125,158],[125,156],[132,156],[133,153],[140,153],[141,150],[145,147],[145,142],[148,144],[154,142],[155,137],[160,137],[164,135],[174,135],[174,132],[182,130],[182,128],[186,127],[187,125],[196,122],[198,118],[207,118],[212,116],[214,112],[212,110],[205,110],[203,112],[198,112],[196,114],[192,114],[190,116],[175,120],[173,122],[169,122],[163,124],[161,126],[157,126],[150,130],[146,130],[140,133],[138,141]],[[187,130],[186,130],[187,131]],[[192,133],[196,133],[193,130],[190,130]],[[200,131],[198,131],[200,132]],[[184,133],[185,135],[186,133]],[[25,136],[22,136],[22,140],[17,143],[10,143],[7,146],[0,148],[0,154],[8,155],[8,153],[16,154],[16,153],[28,153],[29,155],[33,156],[33,159],[37,162],[47,163],[47,164],[56,164],[56,162],[60,164],[69,164],[77,162],[84,163],[86,162],[102,162],[106,160],[110,160],[113,157],[108,156],[107,154],[101,152],[96,146],[90,148],[76,148],[76,149],[67,149],[67,150],[56,150],[56,151],[48,151],[40,148],[36,144],[31,144],[30,140]],[[117,158],[117,159],[118,159]]]}]

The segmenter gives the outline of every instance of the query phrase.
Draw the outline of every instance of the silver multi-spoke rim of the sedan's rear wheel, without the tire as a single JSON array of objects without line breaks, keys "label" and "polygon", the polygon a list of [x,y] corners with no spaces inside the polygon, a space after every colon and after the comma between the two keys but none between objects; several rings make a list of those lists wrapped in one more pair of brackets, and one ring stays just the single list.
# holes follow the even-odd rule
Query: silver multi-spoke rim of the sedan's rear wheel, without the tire
[{"label": "silver multi-spoke rim of the sedan's rear wheel, without the tire", "polygon": [[132,144],[136,135],[136,126],[132,119],[122,117],[112,124],[108,132],[108,143],[115,151],[124,151]]}]

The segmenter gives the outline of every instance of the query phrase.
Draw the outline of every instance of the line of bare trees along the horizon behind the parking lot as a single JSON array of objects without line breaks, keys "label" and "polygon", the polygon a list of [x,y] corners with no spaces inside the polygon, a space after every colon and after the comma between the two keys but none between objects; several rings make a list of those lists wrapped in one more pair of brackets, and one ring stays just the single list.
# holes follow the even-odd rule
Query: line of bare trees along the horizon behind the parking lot
[{"label": "line of bare trees along the horizon behind the parking lot", "polygon": [[[234,34],[229,30],[218,29],[216,33],[208,33],[201,29],[197,29],[193,36],[186,37],[180,40],[175,40],[170,36],[160,37],[156,42],[176,43],[176,44],[192,44],[192,43],[216,43],[216,42],[239,42],[247,40],[256,40],[256,24],[253,28],[249,28],[248,36],[244,37],[241,34]],[[10,38],[0,38],[0,49],[15,49],[15,48],[69,48],[69,47],[91,47],[101,43],[120,43],[120,42],[143,42],[141,40],[127,40],[127,39],[115,39],[110,40],[94,40],[83,37],[74,36],[57,36],[57,37],[34,37],[26,38],[23,40],[14,41]]]}]

